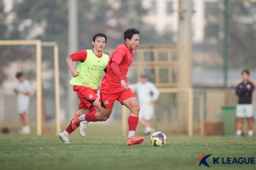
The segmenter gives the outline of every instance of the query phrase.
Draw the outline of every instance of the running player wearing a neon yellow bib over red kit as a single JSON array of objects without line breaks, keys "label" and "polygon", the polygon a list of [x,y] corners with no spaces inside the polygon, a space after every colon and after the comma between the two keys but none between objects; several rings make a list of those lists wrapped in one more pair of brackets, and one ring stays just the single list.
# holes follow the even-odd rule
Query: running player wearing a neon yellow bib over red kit
[{"label": "running player wearing a neon yellow bib over red kit", "polygon": [[[80,99],[79,112],[82,114],[100,110],[100,97],[97,95],[100,76],[103,71],[106,72],[108,64],[108,55],[102,53],[106,46],[107,37],[105,34],[98,33],[92,39],[92,50],[82,50],[71,54],[67,59],[68,67],[73,78],[70,84],[74,85],[73,90],[77,92]],[[78,61],[77,69],[73,67],[73,61]],[[79,132],[85,136],[85,130],[88,122],[80,123]],[[68,127],[59,134],[60,140],[64,143],[70,143],[69,134],[77,127],[72,127],[72,121]]]}]

